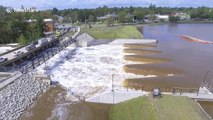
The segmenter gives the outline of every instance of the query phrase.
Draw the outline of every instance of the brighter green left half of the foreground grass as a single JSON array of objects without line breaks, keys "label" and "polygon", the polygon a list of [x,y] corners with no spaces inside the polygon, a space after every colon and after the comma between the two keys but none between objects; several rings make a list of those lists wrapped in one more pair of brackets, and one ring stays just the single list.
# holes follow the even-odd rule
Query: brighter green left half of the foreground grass
[{"label": "brighter green left half of the foreground grass", "polygon": [[109,114],[110,120],[158,120],[155,107],[146,97],[116,104]]}]

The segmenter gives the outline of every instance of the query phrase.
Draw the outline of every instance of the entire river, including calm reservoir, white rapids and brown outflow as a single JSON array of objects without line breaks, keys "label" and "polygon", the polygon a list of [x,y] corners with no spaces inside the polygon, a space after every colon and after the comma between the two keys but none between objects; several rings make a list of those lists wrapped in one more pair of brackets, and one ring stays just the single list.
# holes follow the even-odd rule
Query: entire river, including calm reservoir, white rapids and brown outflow
[{"label": "entire river, including calm reservoir, white rapids and brown outflow", "polygon": [[[51,87],[21,119],[107,120],[110,105],[78,102],[73,100],[67,88],[89,97],[109,90],[113,73],[117,74],[117,84],[126,79],[124,83],[133,88],[142,84],[147,90],[153,87],[168,90],[172,87],[198,88],[206,71],[209,71],[206,81],[210,83],[213,79],[213,45],[188,42],[176,35],[213,41],[213,24],[144,26],[140,30],[145,38],[157,39],[158,44],[127,44],[123,46],[124,50],[122,46],[106,45],[79,48],[75,53],[71,53],[72,48],[65,50],[65,55],[61,53],[56,60],[59,64],[49,63],[54,66],[49,73],[64,87]],[[76,56],[69,56],[72,54]],[[123,61],[123,58],[129,62]],[[123,66],[126,72],[138,75],[124,76],[126,73],[121,72]],[[140,78],[140,75],[148,77]],[[212,115],[212,102],[200,104]]]}]

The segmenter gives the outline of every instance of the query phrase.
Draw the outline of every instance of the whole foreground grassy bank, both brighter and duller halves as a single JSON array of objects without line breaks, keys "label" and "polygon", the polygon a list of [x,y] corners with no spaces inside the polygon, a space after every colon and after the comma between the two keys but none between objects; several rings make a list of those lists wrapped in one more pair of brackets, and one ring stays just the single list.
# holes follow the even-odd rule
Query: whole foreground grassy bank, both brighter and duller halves
[{"label": "whole foreground grassy bank, both brighter and duller halves", "polygon": [[119,103],[111,108],[109,116],[110,120],[208,120],[193,100],[169,95]]}]

